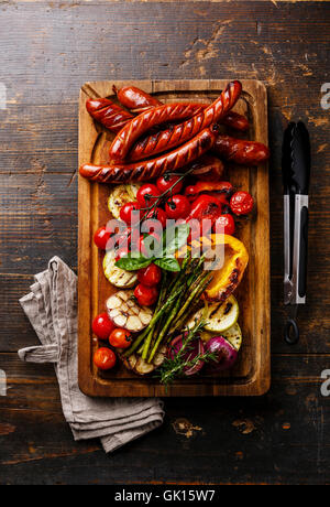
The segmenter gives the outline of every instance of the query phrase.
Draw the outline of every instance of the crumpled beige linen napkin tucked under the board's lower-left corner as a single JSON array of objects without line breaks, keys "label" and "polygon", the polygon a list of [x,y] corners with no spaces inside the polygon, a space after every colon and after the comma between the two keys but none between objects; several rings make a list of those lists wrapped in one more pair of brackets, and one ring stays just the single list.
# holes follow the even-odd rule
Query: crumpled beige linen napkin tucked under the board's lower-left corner
[{"label": "crumpled beige linen napkin tucked under the board's lower-left corner", "polygon": [[77,276],[54,257],[34,277],[20,303],[42,345],[22,348],[30,363],[54,363],[63,412],[75,440],[99,436],[106,452],[162,424],[163,403],[156,398],[89,398],[78,387]]}]

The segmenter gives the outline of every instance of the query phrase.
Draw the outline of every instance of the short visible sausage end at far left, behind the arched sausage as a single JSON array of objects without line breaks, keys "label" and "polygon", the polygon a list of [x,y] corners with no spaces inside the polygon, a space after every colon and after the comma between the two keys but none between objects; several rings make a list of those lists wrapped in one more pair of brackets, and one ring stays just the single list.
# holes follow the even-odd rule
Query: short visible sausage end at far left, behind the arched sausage
[{"label": "short visible sausage end at far left, behind the arched sausage", "polygon": [[89,115],[111,132],[119,132],[133,116],[107,98],[89,98],[86,101]]}]

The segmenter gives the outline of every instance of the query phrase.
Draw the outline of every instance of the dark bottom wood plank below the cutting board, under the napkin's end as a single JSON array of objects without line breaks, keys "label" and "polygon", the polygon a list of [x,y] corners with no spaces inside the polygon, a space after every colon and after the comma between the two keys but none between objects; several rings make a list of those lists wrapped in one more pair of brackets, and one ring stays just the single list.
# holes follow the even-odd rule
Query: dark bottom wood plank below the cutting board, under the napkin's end
[{"label": "dark bottom wood plank below the cutting board, under the napkin's end", "polygon": [[[125,483],[326,483],[330,409],[320,373],[329,364],[329,355],[273,356],[265,398],[201,398],[198,411],[194,399],[167,399],[164,425],[116,453],[109,474],[111,457],[96,441],[73,442],[52,368],[0,355],[10,387],[0,398],[0,483],[122,484],[123,474]],[[178,429],[182,419],[186,430]]]}]

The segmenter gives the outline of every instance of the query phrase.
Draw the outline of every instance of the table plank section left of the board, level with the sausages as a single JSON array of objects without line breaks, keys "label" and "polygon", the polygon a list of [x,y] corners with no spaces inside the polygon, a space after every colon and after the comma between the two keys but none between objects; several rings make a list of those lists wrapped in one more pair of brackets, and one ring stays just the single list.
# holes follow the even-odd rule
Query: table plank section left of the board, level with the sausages
[{"label": "table plank section left of the board, level with the sausages", "polygon": [[0,108],[0,173],[74,173],[77,130],[77,100],[29,106],[21,97]]}]

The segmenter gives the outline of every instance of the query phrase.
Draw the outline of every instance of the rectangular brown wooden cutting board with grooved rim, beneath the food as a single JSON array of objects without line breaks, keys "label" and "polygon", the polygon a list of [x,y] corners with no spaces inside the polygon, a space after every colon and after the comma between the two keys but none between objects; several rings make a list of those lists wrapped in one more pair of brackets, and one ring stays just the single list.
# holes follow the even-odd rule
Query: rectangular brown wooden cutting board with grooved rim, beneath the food
[{"label": "rectangular brown wooden cutting board with grooved rim, beneath the food", "polygon": [[[113,136],[96,123],[86,110],[89,97],[114,99],[118,88],[134,85],[155,94],[164,103],[194,100],[211,103],[226,87],[227,80],[141,80],[86,83],[79,103],[79,165],[86,162],[107,163]],[[248,138],[267,144],[267,96],[258,80],[242,80],[243,93],[234,110],[248,115],[251,123]],[[233,136],[238,136],[233,133]],[[230,373],[215,377],[193,376],[179,379],[165,390],[152,376],[140,377],[121,362],[107,373],[92,364],[98,342],[92,337],[94,316],[105,311],[105,302],[114,292],[102,271],[103,254],[94,245],[92,235],[110,218],[107,199],[110,185],[90,183],[79,175],[78,239],[78,334],[79,386],[89,396],[257,396],[267,391],[271,382],[270,352],[270,209],[267,164],[257,168],[230,168],[224,180],[250,192],[256,201],[252,219],[243,219],[238,237],[245,244],[250,262],[237,290],[240,303],[239,323],[243,345],[239,360]]]}]

